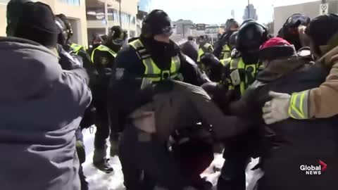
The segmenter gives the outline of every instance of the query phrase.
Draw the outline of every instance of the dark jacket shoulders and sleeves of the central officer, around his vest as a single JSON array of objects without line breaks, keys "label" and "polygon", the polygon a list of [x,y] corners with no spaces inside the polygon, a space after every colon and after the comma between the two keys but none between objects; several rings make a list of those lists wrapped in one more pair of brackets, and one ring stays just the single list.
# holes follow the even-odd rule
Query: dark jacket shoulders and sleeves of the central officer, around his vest
[{"label": "dark jacket shoulders and sleeves of the central officer, around his vest", "polygon": [[[143,37],[140,40],[158,68],[162,70],[170,68],[172,57],[179,56],[179,73],[182,74],[184,82],[199,86],[210,82],[206,75],[199,72],[196,63],[183,55],[174,42],[167,44]],[[127,115],[151,101],[153,94],[147,88],[141,89],[142,76],[146,68],[132,46],[119,51],[114,64],[113,76],[108,87],[108,107],[111,125],[120,132]]]}]

